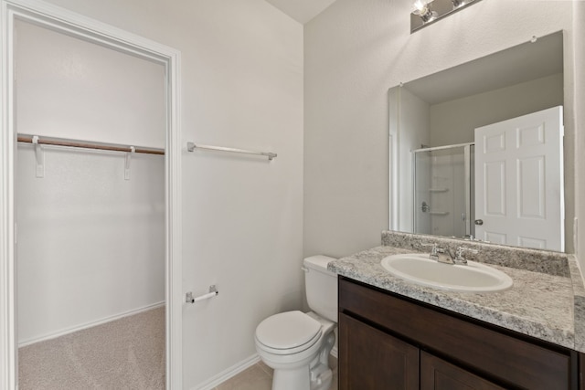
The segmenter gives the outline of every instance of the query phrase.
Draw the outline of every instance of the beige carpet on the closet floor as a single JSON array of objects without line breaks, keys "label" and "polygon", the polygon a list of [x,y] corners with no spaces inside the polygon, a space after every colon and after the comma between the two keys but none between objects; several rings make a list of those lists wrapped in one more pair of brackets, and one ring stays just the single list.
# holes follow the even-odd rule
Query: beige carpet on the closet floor
[{"label": "beige carpet on the closet floor", "polygon": [[164,389],[165,308],[18,350],[21,390]]}]

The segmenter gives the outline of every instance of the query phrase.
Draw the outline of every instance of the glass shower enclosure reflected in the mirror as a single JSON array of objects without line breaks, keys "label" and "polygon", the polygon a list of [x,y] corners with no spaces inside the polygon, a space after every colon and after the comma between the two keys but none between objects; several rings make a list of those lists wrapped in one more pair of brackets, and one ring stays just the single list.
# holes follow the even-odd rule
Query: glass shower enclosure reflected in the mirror
[{"label": "glass shower enclosure reflected in the mirror", "polygon": [[423,147],[412,156],[414,233],[473,236],[473,142]]}]

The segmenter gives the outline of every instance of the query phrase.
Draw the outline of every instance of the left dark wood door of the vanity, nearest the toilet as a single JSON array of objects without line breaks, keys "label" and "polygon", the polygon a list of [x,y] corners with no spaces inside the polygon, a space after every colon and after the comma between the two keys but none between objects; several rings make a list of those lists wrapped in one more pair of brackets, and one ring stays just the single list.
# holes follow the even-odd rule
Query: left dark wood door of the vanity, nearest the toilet
[{"label": "left dark wood door of the vanity, nearest the toilet", "polygon": [[339,390],[419,388],[419,349],[339,313]]}]

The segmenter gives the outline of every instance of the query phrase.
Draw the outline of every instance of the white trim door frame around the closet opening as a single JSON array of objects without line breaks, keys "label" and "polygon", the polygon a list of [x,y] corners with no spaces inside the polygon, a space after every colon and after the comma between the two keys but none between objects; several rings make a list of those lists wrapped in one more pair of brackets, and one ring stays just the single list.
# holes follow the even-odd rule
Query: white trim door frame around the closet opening
[{"label": "white trim door frame around the closet opening", "polygon": [[16,389],[16,132],[14,22],[24,20],[102,47],[161,63],[166,69],[165,348],[166,388],[182,388],[181,53],[39,0],[0,0],[0,388]]}]

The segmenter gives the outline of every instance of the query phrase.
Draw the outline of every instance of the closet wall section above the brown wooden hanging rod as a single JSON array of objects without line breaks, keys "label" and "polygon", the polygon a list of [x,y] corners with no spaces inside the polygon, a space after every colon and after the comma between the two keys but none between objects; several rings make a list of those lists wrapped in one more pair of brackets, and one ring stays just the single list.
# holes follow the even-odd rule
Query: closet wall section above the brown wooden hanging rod
[{"label": "closet wall section above the brown wooden hanging rod", "polygon": [[165,66],[16,22],[20,133],[165,147]]}]

